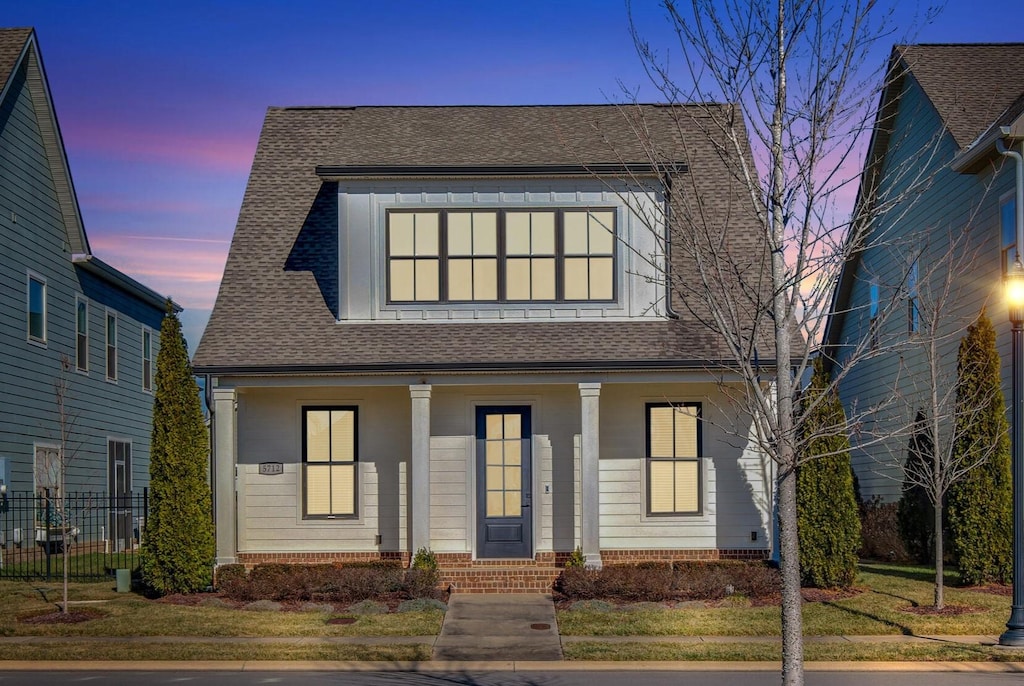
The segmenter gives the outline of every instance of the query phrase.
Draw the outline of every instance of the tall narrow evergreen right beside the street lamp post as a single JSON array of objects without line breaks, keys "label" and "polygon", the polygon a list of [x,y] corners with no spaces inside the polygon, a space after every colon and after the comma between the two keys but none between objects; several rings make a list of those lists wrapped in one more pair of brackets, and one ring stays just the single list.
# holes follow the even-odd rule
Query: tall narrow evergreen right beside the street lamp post
[{"label": "tall narrow evergreen right beside the street lamp post", "polygon": [[972,467],[949,489],[949,533],[961,580],[1009,582],[1013,572],[1010,438],[995,330],[984,311],[961,341],[956,405],[953,451]]}]

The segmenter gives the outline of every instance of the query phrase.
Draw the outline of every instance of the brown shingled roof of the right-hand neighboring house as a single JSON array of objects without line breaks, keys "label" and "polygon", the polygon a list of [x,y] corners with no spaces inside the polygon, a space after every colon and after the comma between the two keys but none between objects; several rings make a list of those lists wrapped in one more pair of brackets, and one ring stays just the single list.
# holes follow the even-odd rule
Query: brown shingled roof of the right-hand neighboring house
[{"label": "brown shingled roof of the right-hand neighboring house", "polygon": [[1024,43],[902,45],[896,50],[962,149],[1024,94]]}]

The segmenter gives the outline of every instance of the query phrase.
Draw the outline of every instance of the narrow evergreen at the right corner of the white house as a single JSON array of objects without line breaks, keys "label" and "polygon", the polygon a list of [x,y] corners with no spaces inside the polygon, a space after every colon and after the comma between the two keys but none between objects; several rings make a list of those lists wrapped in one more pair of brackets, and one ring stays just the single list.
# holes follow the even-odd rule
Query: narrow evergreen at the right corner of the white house
[{"label": "narrow evergreen at the right corner of the white house", "polygon": [[835,386],[828,387],[819,358],[803,398],[808,414],[797,471],[800,572],[806,586],[847,588],[857,576],[860,516],[846,413]]}]

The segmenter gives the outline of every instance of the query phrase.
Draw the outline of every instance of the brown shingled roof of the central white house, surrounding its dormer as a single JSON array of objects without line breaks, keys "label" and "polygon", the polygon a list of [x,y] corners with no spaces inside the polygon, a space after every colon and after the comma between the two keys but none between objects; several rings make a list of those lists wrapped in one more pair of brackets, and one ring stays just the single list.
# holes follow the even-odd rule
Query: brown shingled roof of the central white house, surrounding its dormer
[{"label": "brown shingled roof of the central white house, surrounding its dormer", "polygon": [[[197,371],[688,368],[727,358],[721,340],[687,313],[642,321],[339,323],[323,291],[337,286],[317,284],[310,270],[289,262],[318,195],[336,192],[317,167],[622,165],[649,162],[650,141],[657,159],[685,162],[699,175],[683,192],[720,194],[722,212],[732,213],[735,242],[756,243],[761,232],[751,213],[744,224],[727,207],[737,196],[729,190],[735,183],[700,130],[700,112],[680,117],[679,109],[659,105],[271,108],[194,360]],[[329,240],[337,228],[324,230]]]}]

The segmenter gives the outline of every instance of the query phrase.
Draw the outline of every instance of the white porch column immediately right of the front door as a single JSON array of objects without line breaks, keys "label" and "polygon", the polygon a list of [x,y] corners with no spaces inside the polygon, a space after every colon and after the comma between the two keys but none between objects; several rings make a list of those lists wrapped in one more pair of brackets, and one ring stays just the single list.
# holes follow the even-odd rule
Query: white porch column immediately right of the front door
[{"label": "white porch column immediately right of the front door", "polygon": [[601,384],[580,384],[582,432],[580,436],[581,548],[588,567],[601,568],[600,486],[598,457]]}]

